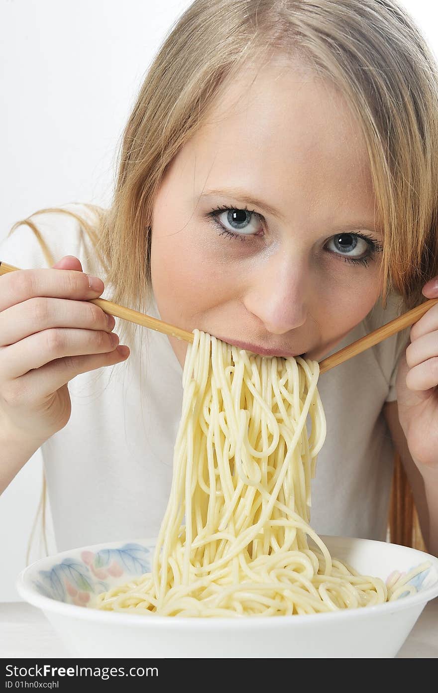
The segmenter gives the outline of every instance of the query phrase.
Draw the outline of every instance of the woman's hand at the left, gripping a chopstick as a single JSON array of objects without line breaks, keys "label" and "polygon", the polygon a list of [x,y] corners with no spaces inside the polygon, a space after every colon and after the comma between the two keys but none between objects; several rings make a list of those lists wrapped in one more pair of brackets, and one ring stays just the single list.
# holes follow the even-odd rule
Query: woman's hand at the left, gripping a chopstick
[{"label": "woman's hand at the left, gripping a chopstick", "polygon": [[69,421],[69,380],[128,358],[128,347],[119,347],[112,333],[114,317],[88,302],[103,289],[100,279],[90,288],[73,256],[51,269],[0,277],[3,439],[33,443],[37,449]]}]

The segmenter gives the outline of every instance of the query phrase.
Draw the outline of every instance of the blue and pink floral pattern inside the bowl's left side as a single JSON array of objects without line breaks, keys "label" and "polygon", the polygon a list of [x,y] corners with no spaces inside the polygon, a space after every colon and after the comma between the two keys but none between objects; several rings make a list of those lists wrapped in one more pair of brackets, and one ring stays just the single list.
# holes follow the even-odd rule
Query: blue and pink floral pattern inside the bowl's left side
[{"label": "blue and pink floral pattern inside the bowl's left side", "polygon": [[[114,586],[114,579],[150,572],[150,547],[137,543],[118,548],[82,551],[78,558],[66,558],[50,570],[40,570],[34,586],[40,595],[65,604],[87,606],[91,596]],[[111,581],[105,581],[105,579]]]}]

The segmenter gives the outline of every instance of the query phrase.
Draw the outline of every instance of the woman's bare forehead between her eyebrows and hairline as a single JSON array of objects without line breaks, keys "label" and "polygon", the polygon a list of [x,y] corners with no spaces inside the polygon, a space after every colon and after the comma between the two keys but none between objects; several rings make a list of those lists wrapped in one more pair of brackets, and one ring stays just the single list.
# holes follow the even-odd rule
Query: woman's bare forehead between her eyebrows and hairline
[{"label": "woman's bare forehead between her eyebrows and hairline", "polygon": [[279,216],[347,207],[349,216],[374,218],[360,126],[334,87],[293,67],[268,64],[221,89],[172,168],[195,197],[237,188]]}]

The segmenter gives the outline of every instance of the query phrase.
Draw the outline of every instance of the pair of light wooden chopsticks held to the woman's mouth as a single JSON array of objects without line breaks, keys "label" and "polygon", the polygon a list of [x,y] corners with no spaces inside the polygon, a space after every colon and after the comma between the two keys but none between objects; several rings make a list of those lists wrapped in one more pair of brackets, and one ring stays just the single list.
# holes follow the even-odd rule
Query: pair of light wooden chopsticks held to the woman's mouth
[{"label": "pair of light wooden chopsticks held to the woman's mouth", "polygon": [[[15,272],[19,270],[19,267],[12,267],[12,265],[7,265],[0,261],[0,275],[7,274],[8,272]],[[349,344],[348,347],[336,351],[331,356],[324,358],[319,362],[319,373],[325,373],[331,368],[340,365],[344,361],[347,361],[353,356],[357,356],[358,353],[369,349],[369,347],[374,347],[374,344],[378,342],[383,342],[387,337],[395,335],[400,332],[405,327],[413,325],[414,322],[420,319],[422,315],[427,313],[427,311],[435,306],[438,299],[428,299],[423,304],[408,310],[408,313],[403,313],[394,318],[387,324],[379,327],[374,332],[370,332],[369,335],[365,337],[360,337],[360,340],[356,340],[353,344]],[[144,313],[139,313],[137,310],[132,310],[132,308],[125,308],[125,306],[119,306],[119,304],[113,303],[112,301],[107,301],[106,299],[91,299],[89,303],[94,303],[99,308],[102,308],[104,313],[108,315],[114,315],[114,317],[121,317],[123,320],[129,320],[130,322],[135,322],[137,325],[143,325],[143,327],[148,327],[150,330],[155,330],[156,332],[161,332],[164,335],[170,335],[170,337],[177,337],[177,339],[184,340],[185,342],[193,342],[193,333],[182,330],[179,327],[168,324],[168,322],[163,322],[150,315],[144,315]]]}]

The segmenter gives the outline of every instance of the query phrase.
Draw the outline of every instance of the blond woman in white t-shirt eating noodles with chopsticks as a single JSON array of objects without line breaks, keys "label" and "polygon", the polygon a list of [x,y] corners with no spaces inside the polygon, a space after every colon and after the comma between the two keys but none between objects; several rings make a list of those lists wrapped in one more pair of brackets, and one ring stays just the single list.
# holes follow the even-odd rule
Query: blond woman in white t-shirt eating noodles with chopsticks
[{"label": "blond woman in white t-shirt eating noodles with chopsticks", "polygon": [[[321,360],[436,296],[437,87],[393,1],[186,10],[130,116],[111,209],[46,211],[0,247],[18,267],[52,256],[0,280],[1,477],[41,447],[59,550],[157,534],[181,406],[186,345],[121,324],[128,358],[87,299]],[[432,308],[320,378],[317,532],[385,538],[396,447],[437,552],[437,327]]]}]

